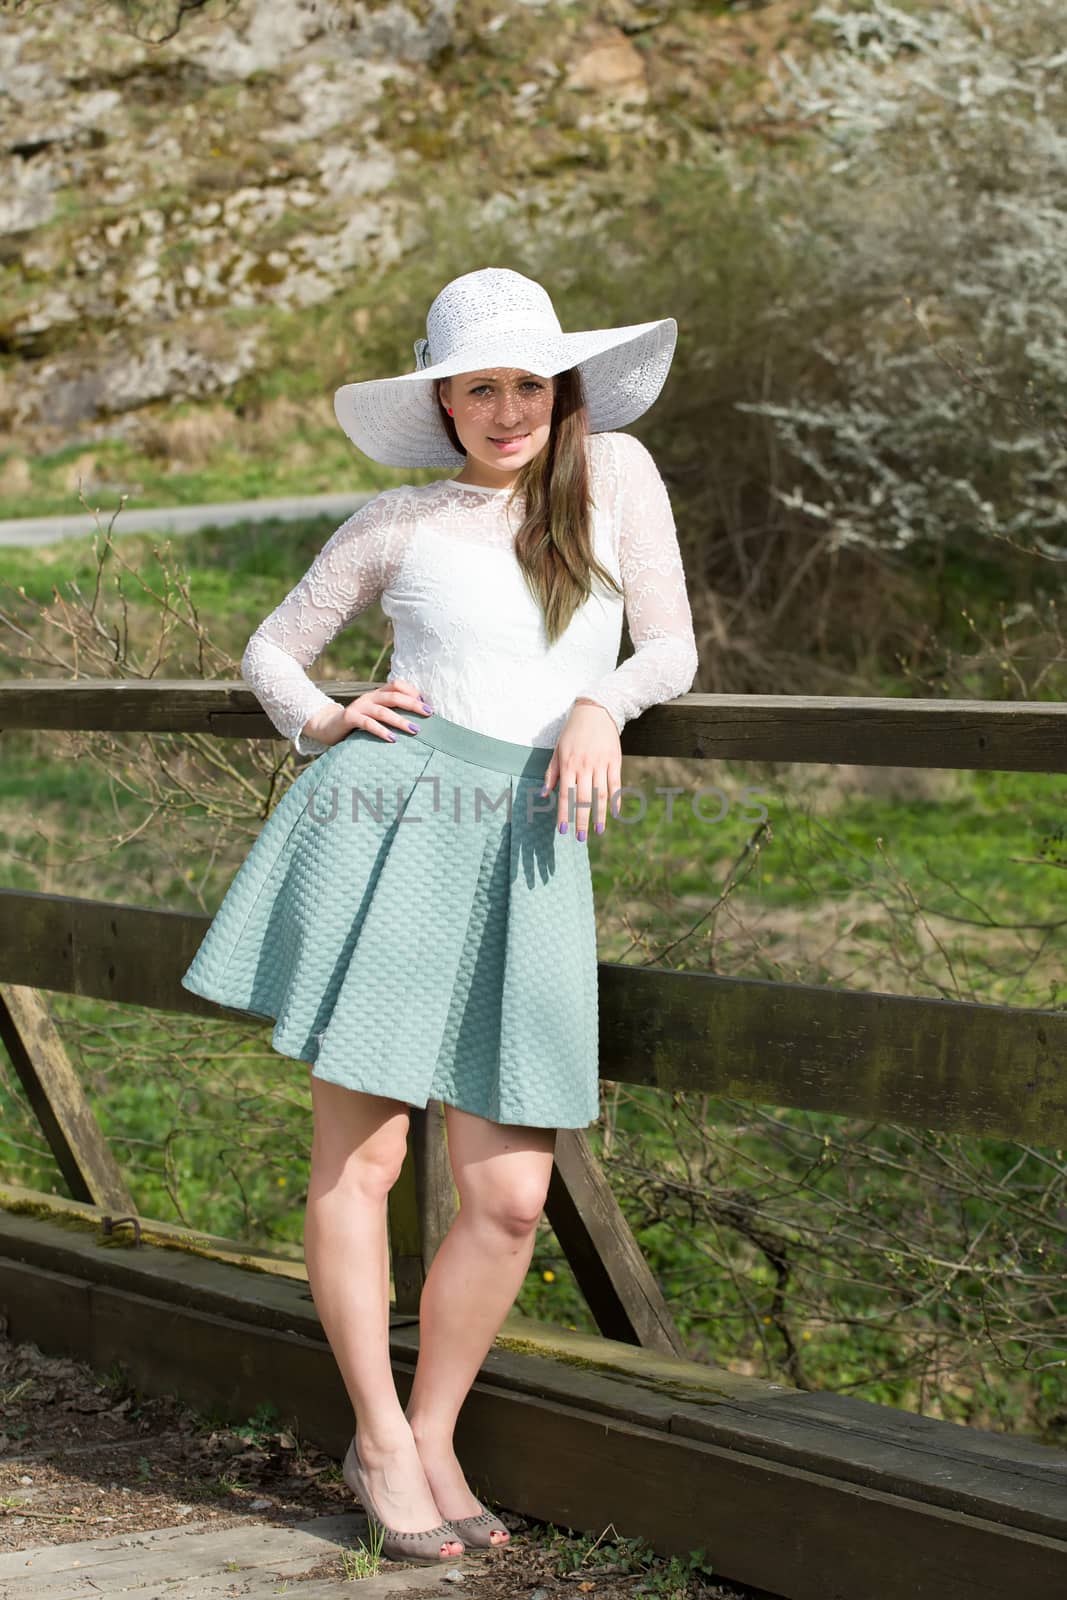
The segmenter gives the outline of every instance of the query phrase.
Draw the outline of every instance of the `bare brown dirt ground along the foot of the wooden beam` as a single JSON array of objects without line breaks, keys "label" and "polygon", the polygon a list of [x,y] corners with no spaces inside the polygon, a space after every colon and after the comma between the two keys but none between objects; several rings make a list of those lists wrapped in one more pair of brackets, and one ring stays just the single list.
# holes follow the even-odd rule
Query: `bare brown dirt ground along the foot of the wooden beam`
[{"label": "bare brown dirt ground along the foot of the wooden beam", "polygon": [[[350,1509],[358,1507],[339,1462],[291,1434],[214,1426],[179,1400],[141,1397],[120,1378],[43,1355],[35,1344],[16,1344],[0,1328],[0,1552],[186,1520],[213,1528],[238,1526],[243,1518],[285,1525]],[[633,1570],[625,1552],[616,1555],[605,1539],[576,1565],[589,1541],[493,1509],[501,1510],[514,1542],[474,1552],[483,1570],[450,1584],[456,1595],[765,1600],[704,1578],[672,1586],[667,1562]],[[382,1571],[398,1566],[382,1562]],[[341,1555],[301,1578],[344,1581]],[[299,1595],[299,1582],[286,1592]]]}]

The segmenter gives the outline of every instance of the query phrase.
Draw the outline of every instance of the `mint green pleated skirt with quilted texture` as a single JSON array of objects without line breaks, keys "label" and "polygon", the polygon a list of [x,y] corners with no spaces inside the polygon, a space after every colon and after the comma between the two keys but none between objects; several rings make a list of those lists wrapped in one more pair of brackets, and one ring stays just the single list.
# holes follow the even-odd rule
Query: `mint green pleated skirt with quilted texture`
[{"label": "mint green pleated skirt with quilted texture", "polygon": [[558,787],[539,795],[552,750],[411,720],[301,771],[181,982],[344,1088],[584,1128],[597,922],[589,845],[558,832]]}]

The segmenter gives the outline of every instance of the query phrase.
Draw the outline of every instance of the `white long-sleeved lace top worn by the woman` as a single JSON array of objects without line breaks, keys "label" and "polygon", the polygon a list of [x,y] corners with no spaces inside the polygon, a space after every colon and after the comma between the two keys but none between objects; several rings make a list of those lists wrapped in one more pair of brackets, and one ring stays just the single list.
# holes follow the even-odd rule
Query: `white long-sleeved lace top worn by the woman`
[{"label": "white long-sleeved lace top worn by the woman", "polygon": [[[394,624],[389,677],[498,739],[552,749],[579,696],[622,731],[648,706],[685,694],[697,654],[667,488],[632,434],[590,434],[587,446],[593,544],[621,597],[593,574],[549,645],[512,554],[522,510],[507,506],[507,488],[442,478],[382,490],[330,536],[245,646],[242,677],[278,733],[301,755],[328,749],[301,730],[341,702],[306,669],[374,600]],[[616,666],[624,605],[633,654]]]}]

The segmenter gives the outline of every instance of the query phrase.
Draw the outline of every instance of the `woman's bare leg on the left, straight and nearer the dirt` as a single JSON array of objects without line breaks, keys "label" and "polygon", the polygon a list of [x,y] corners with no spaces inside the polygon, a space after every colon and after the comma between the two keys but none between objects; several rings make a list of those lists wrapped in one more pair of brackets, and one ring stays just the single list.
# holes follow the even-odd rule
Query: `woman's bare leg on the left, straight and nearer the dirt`
[{"label": "woman's bare leg on the left, straight and nearer the dirt", "polygon": [[[442,1522],[389,1363],[386,1202],[408,1136],[403,1101],[310,1075],[312,1163],[304,1259],[318,1320],[355,1413],[355,1448],[390,1528]],[[459,1555],[446,1539],[442,1555]]]}]

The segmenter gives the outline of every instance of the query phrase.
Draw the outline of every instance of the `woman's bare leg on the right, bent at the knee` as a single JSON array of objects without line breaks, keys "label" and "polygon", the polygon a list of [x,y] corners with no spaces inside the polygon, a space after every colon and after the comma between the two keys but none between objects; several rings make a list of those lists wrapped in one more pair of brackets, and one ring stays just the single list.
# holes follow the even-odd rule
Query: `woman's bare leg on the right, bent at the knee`
[{"label": "woman's bare leg on the right, bent at the knee", "polygon": [[[445,1123],[459,1211],[422,1285],[406,1411],[442,1515],[474,1517],[480,1506],[456,1459],[453,1430],[530,1267],[555,1128],[488,1122],[448,1104]],[[507,1534],[493,1539],[507,1544]]]}]

